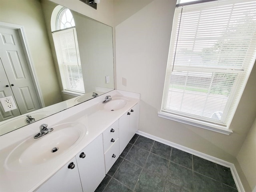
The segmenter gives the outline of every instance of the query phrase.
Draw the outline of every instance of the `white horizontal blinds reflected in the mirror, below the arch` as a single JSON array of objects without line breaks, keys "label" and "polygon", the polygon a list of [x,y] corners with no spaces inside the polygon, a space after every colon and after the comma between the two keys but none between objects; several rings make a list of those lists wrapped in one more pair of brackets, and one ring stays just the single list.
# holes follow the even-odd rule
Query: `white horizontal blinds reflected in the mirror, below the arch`
[{"label": "white horizontal blinds reflected in the mirror, below the arch", "polygon": [[84,93],[76,28],[52,33],[64,90]]}]

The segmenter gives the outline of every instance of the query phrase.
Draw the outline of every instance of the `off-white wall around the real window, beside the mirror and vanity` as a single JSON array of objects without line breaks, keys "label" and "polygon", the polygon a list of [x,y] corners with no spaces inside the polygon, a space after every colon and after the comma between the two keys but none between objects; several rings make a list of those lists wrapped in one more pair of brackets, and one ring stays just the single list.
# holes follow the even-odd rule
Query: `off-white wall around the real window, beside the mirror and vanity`
[{"label": "off-white wall around the real window, beside the mirror and vanity", "polygon": [[[120,10],[129,2],[114,0],[114,18],[122,18],[114,20],[116,86],[120,90],[141,94],[139,130],[236,162],[236,155],[256,117],[256,65],[230,125],[233,133],[229,136],[160,118],[157,112],[161,107],[176,0],[148,0],[144,7],[139,5],[140,10],[134,8],[130,15],[123,14]],[[244,185],[248,183],[244,181]]]}]

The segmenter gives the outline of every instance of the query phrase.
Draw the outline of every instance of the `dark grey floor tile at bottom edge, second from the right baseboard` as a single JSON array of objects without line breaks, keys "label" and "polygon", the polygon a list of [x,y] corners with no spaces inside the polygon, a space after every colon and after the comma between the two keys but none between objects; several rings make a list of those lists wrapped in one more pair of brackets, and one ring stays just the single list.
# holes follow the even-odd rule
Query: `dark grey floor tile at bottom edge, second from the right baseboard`
[{"label": "dark grey floor tile at bottom edge, second from the right baseboard", "polygon": [[196,192],[222,192],[222,185],[219,181],[194,172],[194,191]]}]

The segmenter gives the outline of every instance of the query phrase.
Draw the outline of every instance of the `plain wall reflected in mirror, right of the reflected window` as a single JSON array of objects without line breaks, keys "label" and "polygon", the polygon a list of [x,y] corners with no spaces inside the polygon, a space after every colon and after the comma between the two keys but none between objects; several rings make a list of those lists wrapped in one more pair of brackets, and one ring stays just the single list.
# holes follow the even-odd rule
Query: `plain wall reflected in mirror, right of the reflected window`
[{"label": "plain wall reflected in mirror, right of the reflected window", "polygon": [[[95,87],[114,89],[112,27],[72,12],[82,65],[85,93]],[[109,76],[109,83],[106,83]]]}]

